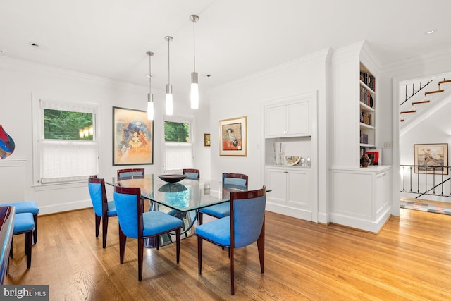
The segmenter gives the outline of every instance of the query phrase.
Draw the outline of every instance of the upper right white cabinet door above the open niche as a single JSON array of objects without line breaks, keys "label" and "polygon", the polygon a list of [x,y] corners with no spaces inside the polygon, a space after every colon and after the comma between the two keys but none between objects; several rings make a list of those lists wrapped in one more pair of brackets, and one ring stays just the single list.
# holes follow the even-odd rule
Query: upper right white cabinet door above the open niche
[{"label": "upper right white cabinet door above the open niche", "polygon": [[310,134],[309,102],[298,102],[287,106],[288,136],[307,136]]}]

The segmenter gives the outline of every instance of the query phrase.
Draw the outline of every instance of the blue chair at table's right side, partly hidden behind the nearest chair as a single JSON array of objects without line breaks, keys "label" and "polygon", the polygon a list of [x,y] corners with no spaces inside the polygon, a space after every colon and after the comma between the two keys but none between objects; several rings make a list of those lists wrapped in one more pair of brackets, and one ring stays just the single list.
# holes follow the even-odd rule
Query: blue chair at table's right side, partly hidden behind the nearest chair
[{"label": "blue chair at table's right side, partly hidden behind the nearest chair", "polygon": [[[223,173],[223,188],[247,190],[247,175],[242,173]],[[199,225],[204,221],[204,214],[221,219],[230,215],[230,204],[225,202],[199,209]]]}]

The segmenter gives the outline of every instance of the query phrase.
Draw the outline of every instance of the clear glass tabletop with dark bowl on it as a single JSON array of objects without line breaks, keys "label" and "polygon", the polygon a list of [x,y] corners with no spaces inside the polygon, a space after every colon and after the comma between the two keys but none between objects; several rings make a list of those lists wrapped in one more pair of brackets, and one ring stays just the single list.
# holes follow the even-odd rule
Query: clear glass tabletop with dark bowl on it
[{"label": "clear glass tabletop with dark bowl on it", "polygon": [[228,202],[231,191],[246,190],[238,185],[223,188],[221,181],[210,181],[200,185],[198,180],[188,178],[177,183],[167,183],[153,174],[120,180],[113,178],[105,183],[126,188],[139,187],[142,197],[183,212]]}]

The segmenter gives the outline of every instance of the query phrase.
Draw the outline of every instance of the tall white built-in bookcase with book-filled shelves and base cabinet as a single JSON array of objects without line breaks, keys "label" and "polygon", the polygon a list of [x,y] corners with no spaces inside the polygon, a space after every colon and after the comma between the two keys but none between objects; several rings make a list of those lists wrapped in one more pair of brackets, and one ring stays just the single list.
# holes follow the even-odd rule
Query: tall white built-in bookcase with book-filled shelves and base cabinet
[{"label": "tall white built-in bookcase with book-filled shelves and base cabinet", "polygon": [[[334,139],[330,220],[377,233],[390,217],[391,166],[362,168],[360,157],[365,147],[381,148],[377,139],[380,119],[376,119],[382,101],[376,97],[379,63],[365,42],[336,49],[332,63]],[[362,99],[362,92],[368,99]]]}]

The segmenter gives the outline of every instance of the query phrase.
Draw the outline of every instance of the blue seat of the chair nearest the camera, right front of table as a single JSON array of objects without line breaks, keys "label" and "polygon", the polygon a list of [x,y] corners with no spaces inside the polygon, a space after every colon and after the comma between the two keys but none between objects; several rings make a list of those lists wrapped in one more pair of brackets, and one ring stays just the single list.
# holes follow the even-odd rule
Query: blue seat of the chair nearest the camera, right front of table
[{"label": "blue seat of the chair nearest the camera, right front of table", "polygon": [[[228,206],[230,208],[229,203]],[[197,226],[196,235],[218,245],[230,245],[230,216]]]}]

